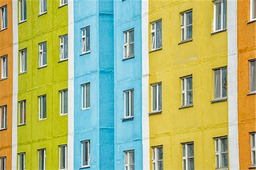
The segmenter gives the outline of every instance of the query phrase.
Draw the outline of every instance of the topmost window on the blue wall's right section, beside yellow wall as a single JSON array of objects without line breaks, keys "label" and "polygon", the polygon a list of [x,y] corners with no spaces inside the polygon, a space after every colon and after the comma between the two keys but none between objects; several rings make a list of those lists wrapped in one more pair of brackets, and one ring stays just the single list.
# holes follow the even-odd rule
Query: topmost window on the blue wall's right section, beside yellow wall
[{"label": "topmost window on the blue wall's right section, beside yellow wall", "polygon": [[123,58],[134,56],[134,29],[124,32]]}]

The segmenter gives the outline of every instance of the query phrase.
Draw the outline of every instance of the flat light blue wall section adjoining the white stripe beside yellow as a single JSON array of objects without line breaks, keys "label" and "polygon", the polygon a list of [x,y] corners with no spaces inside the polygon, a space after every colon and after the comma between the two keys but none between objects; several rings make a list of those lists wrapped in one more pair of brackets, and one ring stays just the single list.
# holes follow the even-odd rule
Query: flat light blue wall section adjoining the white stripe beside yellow
[{"label": "flat light blue wall section adjoining the white stripe beside yellow", "polygon": [[[134,28],[135,57],[123,60],[123,31]],[[114,1],[115,169],[125,168],[125,153],[134,150],[135,169],[142,167],[141,1]],[[124,90],[134,89],[134,118],[124,118]]]}]

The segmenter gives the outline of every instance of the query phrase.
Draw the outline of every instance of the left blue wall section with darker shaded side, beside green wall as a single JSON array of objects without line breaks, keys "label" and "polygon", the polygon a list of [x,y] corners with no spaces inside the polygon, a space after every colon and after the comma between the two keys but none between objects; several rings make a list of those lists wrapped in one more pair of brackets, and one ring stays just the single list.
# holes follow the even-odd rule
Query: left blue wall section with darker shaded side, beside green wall
[{"label": "left blue wall section with darker shaded side, beside green wall", "polygon": [[[74,3],[74,169],[81,141],[90,139],[90,168],[114,169],[113,1]],[[90,53],[81,55],[81,28],[90,26]],[[90,82],[90,109],[81,109],[81,84]]]}]

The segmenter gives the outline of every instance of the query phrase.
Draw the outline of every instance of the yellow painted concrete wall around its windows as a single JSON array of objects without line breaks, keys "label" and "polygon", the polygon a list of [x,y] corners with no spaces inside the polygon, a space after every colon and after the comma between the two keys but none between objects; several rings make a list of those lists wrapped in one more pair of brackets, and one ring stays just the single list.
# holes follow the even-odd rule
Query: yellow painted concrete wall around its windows
[{"label": "yellow painted concrete wall around its windows", "polygon": [[[180,13],[190,9],[193,39],[179,44]],[[163,145],[164,169],[181,169],[181,143],[193,141],[195,169],[214,169],[213,138],[228,135],[228,102],[210,102],[212,69],[227,65],[227,31],[211,35],[212,1],[149,1],[148,15],[149,22],[162,19],[163,44],[159,51],[149,53],[149,84],[162,82],[162,113],[149,118],[150,147]],[[151,47],[150,24],[148,30]],[[189,74],[193,76],[193,107],[179,109],[180,77]]]}]

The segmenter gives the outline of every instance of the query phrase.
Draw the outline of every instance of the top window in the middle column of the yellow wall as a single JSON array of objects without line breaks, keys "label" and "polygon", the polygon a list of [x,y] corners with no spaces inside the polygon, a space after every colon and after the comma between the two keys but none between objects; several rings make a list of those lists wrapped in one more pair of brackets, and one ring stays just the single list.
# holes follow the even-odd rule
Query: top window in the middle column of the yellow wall
[{"label": "top window in the middle column of the yellow wall", "polygon": [[180,14],[181,42],[192,39],[192,10]]}]

